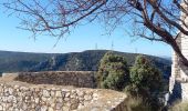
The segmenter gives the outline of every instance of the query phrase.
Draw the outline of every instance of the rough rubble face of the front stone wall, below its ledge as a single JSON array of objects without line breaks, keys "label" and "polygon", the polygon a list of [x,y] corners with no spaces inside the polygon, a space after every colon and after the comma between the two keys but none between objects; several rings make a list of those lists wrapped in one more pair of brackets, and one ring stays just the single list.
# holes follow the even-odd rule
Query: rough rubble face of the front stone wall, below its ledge
[{"label": "rough rubble face of the front stone wall, below its ledge", "polygon": [[69,111],[97,100],[94,90],[0,84],[0,110]]}]

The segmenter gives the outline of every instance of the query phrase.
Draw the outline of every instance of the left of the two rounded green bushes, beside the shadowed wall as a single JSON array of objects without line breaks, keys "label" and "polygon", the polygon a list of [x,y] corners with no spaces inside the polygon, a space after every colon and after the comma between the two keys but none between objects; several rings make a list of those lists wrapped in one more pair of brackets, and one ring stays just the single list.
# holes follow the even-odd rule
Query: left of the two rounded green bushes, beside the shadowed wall
[{"label": "left of the two rounded green bushes, beside the shadowed wall", "polygon": [[98,88],[123,90],[128,82],[128,67],[122,56],[107,52],[101,60],[97,72]]}]

